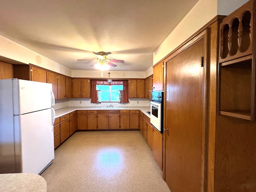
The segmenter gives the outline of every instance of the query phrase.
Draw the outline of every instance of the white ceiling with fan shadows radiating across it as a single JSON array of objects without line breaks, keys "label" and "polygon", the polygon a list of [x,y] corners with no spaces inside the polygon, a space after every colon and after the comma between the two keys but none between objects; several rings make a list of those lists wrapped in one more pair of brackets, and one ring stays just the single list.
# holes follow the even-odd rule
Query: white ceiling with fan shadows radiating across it
[{"label": "white ceiling with fan shadows radiating across it", "polygon": [[0,35],[71,70],[95,70],[93,52],[146,71],[153,52],[198,0],[0,0]]}]

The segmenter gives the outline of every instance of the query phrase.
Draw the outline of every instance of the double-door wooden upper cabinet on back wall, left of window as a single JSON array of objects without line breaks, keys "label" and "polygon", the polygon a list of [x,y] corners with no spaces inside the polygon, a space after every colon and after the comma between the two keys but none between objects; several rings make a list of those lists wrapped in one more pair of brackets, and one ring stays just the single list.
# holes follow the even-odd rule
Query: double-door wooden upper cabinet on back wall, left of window
[{"label": "double-door wooden upper cabinet on back wall, left of window", "polygon": [[73,78],[72,98],[90,98],[90,79]]}]

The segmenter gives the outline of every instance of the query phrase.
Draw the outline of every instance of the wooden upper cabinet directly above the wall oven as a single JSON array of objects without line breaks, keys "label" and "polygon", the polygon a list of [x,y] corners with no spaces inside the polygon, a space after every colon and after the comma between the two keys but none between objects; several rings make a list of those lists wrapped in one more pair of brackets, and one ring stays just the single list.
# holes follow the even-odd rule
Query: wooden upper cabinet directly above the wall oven
[{"label": "wooden upper cabinet directly above the wall oven", "polygon": [[164,90],[164,62],[160,62],[153,66],[153,90]]}]

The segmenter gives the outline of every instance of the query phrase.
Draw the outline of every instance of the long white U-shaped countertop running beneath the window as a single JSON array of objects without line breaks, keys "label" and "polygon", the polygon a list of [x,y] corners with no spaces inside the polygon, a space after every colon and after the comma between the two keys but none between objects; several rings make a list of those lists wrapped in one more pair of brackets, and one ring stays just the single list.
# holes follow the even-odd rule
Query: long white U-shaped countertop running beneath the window
[{"label": "long white U-shaped countertop running beneath the window", "polygon": [[66,107],[55,111],[55,118],[66,115],[76,110],[141,110],[146,116],[150,115],[146,111],[150,111],[150,107]]}]

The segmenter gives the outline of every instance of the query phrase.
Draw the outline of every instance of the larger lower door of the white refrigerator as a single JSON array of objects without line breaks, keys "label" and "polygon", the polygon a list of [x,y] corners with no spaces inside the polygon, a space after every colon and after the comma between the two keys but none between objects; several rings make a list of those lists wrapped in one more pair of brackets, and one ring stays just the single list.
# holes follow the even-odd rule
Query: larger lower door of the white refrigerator
[{"label": "larger lower door of the white refrigerator", "polygon": [[17,171],[39,174],[54,159],[52,109],[14,116],[14,132]]}]

